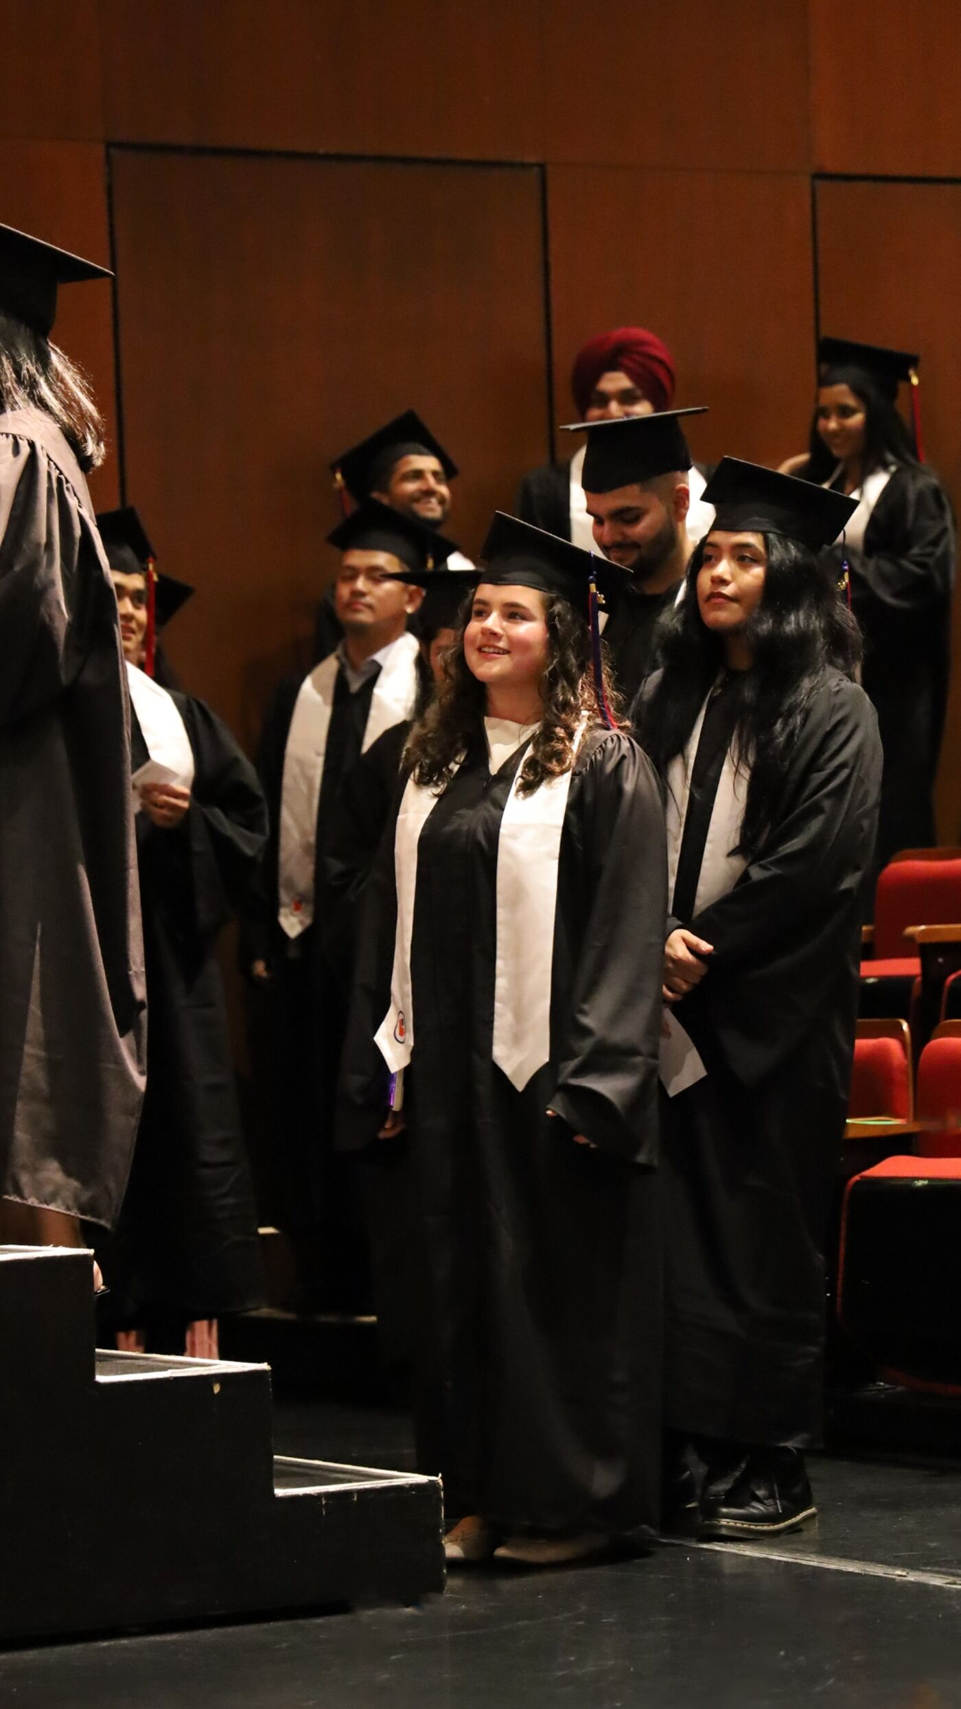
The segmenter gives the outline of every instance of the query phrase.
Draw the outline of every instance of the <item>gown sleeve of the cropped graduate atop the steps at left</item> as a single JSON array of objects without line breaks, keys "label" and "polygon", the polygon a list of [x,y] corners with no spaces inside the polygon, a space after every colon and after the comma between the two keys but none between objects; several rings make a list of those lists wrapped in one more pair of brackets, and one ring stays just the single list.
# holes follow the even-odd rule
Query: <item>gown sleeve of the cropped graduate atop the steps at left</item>
[{"label": "gown sleeve of the cropped graduate atop the steps at left", "polygon": [[68,482],[29,439],[0,436],[0,726],[70,687],[109,600]]}]

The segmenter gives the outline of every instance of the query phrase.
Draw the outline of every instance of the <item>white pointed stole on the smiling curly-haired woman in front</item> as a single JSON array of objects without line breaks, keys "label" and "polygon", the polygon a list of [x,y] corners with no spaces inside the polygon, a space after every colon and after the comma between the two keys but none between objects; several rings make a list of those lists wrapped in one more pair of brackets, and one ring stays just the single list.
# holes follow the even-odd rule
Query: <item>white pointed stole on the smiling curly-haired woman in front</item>
[{"label": "white pointed stole on the smiling curly-haired woman in front", "polygon": [[[580,745],[583,725],[578,731]],[[557,866],[573,766],[549,778],[532,795],[520,795],[518,766],[498,836],[494,1037],[492,1060],[511,1085],[523,1087],[551,1058],[551,974]],[[414,1051],[410,943],[417,890],[417,846],[439,793],[409,779],[393,843],[397,935],[390,1008],[374,1042],[393,1075]]]}]

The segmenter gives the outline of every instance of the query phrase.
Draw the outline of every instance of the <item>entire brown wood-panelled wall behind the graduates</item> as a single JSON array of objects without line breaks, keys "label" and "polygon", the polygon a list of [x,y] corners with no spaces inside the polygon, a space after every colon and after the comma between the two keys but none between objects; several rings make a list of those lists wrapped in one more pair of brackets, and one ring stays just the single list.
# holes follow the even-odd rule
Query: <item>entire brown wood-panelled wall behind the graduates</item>
[{"label": "entire brown wood-panelled wall behind the graduates", "polygon": [[[658,330],[696,455],[802,449],[816,328],[923,352],[961,501],[956,0],[7,0],[0,217],[96,260],[58,338],[250,742],[332,569],[327,463],[416,405],[475,550],[576,345]],[[961,602],[959,602],[961,610]],[[961,617],[959,617],[961,624]],[[961,629],[959,629],[961,634]],[[961,699],[940,831],[961,824]]]}]

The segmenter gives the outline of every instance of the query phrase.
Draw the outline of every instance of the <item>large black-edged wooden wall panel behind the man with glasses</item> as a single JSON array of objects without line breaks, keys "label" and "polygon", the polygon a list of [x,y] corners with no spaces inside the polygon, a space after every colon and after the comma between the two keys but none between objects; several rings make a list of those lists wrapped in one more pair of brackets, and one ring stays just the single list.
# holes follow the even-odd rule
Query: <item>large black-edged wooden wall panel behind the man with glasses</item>
[{"label": "large black-edged wooden wall panel behind the man with glasses", "polygon": [[174,665],[250,740],[335,564],[337,451],[419,408],[467,550],[544,458],[540,181],[150,152],[113,174],[128,499],[200,590]]}]

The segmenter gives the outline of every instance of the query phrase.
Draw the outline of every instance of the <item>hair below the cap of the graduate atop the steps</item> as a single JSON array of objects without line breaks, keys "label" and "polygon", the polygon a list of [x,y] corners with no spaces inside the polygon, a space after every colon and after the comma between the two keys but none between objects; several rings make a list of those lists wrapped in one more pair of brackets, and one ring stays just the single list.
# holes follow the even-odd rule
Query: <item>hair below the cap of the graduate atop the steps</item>
[{"label": "hair below the cap of the graduate atop the steps", "polygon": [[43,410],[87,473],[106,455],[101,414],[80,369],[43,333],[0,313],[0,410]]}]

